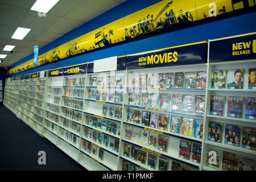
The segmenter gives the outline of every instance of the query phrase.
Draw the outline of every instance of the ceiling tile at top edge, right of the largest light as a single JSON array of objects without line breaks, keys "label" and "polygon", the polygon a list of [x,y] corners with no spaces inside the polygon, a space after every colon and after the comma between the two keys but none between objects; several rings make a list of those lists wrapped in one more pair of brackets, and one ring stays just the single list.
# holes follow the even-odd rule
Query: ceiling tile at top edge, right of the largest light
[{"label": "ceiling tile at top edge, right of the largest light", "polygon": [[82,22],[88,22],[89,20],[96,18],[96,16],[105,13],[118,4],[118,2],[114,2],[112,0],[85,0],[79,6],[65,15],[65,17],[80,20]]}]

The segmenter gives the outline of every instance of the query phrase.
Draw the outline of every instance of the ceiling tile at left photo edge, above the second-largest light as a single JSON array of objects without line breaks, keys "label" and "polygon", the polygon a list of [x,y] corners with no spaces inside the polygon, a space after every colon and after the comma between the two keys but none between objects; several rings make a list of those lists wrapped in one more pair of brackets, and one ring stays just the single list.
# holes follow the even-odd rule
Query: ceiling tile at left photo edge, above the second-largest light
[{"label": "ceiling tile at left photo edge, above the second-largest light", "polygon": [[0,4],[0,24],[19,26],[28,11],[20,7]]}]

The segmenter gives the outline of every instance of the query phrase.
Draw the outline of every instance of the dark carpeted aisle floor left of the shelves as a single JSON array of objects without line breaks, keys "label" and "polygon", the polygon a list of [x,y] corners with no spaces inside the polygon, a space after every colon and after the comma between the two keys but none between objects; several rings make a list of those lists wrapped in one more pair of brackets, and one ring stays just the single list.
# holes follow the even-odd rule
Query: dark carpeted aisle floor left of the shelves
[{"label": "dark carpeted aisle floor left of the shelves", "polygon": [[[85,170],[5,106],[0,106],[0,146],[0,171]],[[46,165],[38,164],[39,151],[46,152]]]}]

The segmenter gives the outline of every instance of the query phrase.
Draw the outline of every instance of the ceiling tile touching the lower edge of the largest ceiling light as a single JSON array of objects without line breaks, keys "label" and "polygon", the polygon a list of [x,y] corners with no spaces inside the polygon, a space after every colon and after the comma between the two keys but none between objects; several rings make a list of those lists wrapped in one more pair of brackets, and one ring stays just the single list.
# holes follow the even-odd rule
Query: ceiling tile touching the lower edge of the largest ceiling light
[{"label": "ceiling tile touching the lower edge of the largest ceiling light", "polygon": [[20,27],[45,31],[60,18],[61,16],[51,14],[46,14],[46,16],[39,16],[38,12],[30,11],[23,19],[22,23],[20,23]]}]

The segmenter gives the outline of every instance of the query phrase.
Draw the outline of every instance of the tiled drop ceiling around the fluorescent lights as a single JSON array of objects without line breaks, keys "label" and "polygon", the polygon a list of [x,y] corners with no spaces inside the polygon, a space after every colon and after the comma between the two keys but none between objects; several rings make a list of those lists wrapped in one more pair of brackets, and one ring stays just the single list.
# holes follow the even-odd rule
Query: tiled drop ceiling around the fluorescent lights
[{"label": "tiled drop ceiling around the fluorescent lights", "polygon": [[[0,67],[10,67],[34,52],[34,45],[46,46],[89,20],[126,0],[60,0],[46,16],[30,10],[36,0],[0,0]],[[11,39],[17,27],[31,28],[23,40]],[[15,46],[13,53],[3,51]]]}]

